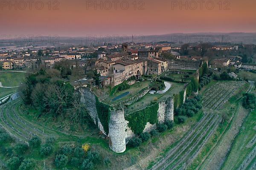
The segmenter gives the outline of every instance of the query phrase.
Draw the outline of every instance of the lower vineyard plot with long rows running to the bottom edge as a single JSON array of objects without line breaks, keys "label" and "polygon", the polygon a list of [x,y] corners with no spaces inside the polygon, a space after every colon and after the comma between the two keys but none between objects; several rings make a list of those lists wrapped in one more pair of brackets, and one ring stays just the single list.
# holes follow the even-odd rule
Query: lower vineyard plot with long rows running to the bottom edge
[{"label": "lower vineyard plot with long rows running to the bottom edge", "polygon": [[218,126],[220,117],[206,113],[195,127],[189,131],[169,153],[152,167],[152,170],[177,169],[183,163],[195,157],[209,136]]}]

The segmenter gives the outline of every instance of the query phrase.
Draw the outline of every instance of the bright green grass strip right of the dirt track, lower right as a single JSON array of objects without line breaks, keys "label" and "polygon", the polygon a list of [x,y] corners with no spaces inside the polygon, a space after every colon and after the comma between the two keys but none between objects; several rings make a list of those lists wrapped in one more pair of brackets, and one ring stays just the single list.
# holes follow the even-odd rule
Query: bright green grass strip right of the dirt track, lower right
[{"label": "bright green grass strip right of the dirt track, lower right", "polygon": [[247,118],[244,120],[243,126],[241,127],[239,134],[236,136],[230,153],[224,162],[223,170],[238,169],[247,155],[256,146],[254,144],[251,147],[247,147],[247,144],[256,135],[256,110],[249,113]]}]

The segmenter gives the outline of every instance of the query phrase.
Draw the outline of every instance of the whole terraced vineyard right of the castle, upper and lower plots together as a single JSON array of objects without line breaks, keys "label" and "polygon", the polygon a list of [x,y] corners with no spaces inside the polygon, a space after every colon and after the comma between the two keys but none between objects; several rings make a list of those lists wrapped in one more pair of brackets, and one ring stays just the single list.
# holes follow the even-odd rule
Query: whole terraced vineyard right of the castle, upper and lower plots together
[{"label": "whole terraced vineyard right of the castle, upper and lower plots together", "polygon": [[[225,103],[244,82],[218,82],[205,91],[203,118],[151,170],[183,170],[200,153],[221,122]],[[225,106],[226,107],[226,106]]]}]

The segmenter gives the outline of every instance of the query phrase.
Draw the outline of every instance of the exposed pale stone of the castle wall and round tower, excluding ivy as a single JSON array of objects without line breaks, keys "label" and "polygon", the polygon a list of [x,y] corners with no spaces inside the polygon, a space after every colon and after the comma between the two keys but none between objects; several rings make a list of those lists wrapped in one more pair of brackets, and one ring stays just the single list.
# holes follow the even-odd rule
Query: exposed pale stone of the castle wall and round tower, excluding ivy
[{"label": "exposed pale stone of the castle wall and round tower, excluding ivy", "polygon": [[[106,134],[97,114],[95,94],[89,88],[79,88],[78,91],[81,93],[81,102],[86,105],[93,122],[98,124],[97,126],[102,133]],[[159,102],[157,116],[159,123],[164,123],[166,120],[174,120],[174,99],[172,97]],[[133,136],[135,136],[131,128],[128,127],[128,123],[129,122],[125,120],[125,113],[123,109],[119,111],[111,111],[108,125],[109,147],[116,153],[124,152],[126,144]],[[148,122],[143,132],[150,132],[156,128],[156,124],[151,125]]]}]

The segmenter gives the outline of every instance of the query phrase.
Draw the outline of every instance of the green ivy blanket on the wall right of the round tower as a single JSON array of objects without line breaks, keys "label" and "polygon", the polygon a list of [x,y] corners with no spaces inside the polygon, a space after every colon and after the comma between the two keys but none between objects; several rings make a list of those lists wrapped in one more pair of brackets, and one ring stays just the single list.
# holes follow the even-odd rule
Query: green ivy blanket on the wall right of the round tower
[{"label": "green ivy blanket on the wall right of the round tower", "polygon": [[129,115],[125,116],[125,119],[129,121],[128,126],[131,127],[131,130],[140,135],[143,133],[145,129],[145,125],[147,122],[151,123],[152,125],[158,122],[157,119],[157,111],[159,109],[158,103],[154,105],[150,105],[140,111],[133,112]]}]

